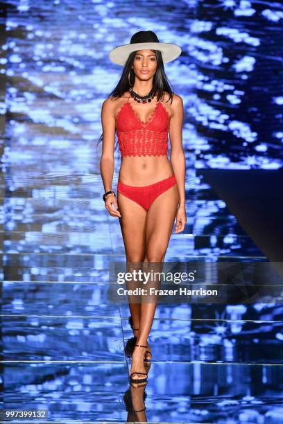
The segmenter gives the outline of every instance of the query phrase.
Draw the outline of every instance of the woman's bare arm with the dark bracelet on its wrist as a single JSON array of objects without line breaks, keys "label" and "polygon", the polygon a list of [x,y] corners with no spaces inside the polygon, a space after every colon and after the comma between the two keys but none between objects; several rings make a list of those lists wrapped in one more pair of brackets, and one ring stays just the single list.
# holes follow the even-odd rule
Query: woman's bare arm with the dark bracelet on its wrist
[{"label": "woman's bare arm with the dark bracelet on its wrist", "polygon": [[[104,191],[112,190],[114,175],[114,142],[115,142],[115,117],[114,101],[110,98],[104,100],[101,108],[101,124],[103,129],[103,143],[100,160],[101,177]],[[121,216],[119,211],[111,207],[111,203],[118,209],[116,197],[113,194],[106,196],[105,208],[112,216]]]}]

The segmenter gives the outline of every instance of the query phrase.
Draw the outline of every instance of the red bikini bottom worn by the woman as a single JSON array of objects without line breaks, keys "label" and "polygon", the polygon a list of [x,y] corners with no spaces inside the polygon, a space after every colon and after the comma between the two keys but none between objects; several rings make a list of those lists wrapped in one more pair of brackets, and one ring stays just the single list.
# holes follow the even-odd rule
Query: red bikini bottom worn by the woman
[{"label": "red bikini bottom worn by the woman", "polygon": [[171,177],[157,181],[154,184],[149,184],[149,186],[142,187],[128,186],[128,184],[123,184],[121,181],[118,181],[117,191],[128,197],[128,199],[140,204],[148,211],[153,200],[164,191],[175,186],[176,183],[175,175],[171,175]]}]

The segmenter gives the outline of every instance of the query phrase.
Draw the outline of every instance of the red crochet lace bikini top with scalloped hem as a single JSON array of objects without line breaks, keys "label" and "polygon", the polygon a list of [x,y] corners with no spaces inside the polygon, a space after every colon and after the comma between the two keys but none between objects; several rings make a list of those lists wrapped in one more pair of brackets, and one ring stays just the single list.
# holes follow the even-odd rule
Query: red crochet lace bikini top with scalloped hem
[{"label": "red crochet lace bikini top with scalloped hem", "polygon": [[124,103],[116,117],[122,156],[163,156],[168,151],[169,114],[157,102],[148,121],[141,121],[132,105]]}]

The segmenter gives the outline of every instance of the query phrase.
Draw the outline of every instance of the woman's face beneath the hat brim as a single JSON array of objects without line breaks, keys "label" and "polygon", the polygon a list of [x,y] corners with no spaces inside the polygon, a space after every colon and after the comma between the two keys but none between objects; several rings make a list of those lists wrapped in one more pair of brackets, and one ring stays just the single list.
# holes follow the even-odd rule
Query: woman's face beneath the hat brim
[{"label": "woman's face beneath the hat brim", "polygon": [[148,80],[155,74],[157,68],[156,55],[153,50],[138,50],[132,64],[135,75],[140,80]]}]

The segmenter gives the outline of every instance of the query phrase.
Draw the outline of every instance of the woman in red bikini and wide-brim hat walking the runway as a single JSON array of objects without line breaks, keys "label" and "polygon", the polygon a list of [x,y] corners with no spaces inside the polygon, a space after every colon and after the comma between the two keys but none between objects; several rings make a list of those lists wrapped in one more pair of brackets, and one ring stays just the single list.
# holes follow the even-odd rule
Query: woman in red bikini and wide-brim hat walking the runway
[{"label": "woman in red bikini and wide-brim hat walking the runway", "polygon": [[[174,233],[183,231],[187,222],[182,98],[172,93],[163,64],[180,53],[179,46],[160,43],[152,31],[139,31],[130,44],[109,55],[124,69],[101,110],[103,200],[110,215],[119,218],[126,260],[131,263],[162,263],[174,220]],[[115,130],[122,155],[117,197],[112,191]],[[130,301],[129,306],[136,337],[130,380],[142,383],[147,378],[144,361],[151,357],[147,339],[156,302]]]}]

